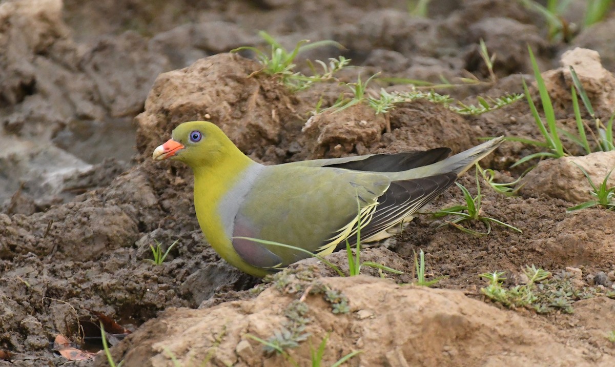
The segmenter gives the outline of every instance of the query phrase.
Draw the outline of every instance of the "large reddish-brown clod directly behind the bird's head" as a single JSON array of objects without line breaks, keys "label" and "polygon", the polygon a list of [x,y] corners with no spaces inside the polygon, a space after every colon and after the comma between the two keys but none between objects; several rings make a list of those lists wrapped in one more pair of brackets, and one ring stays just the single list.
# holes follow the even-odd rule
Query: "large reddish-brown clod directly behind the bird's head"
[{"label": "large reddish-brown clod directly behind the bird's head", "polygon": [[256,61],[221,53],[158,76],[136,118],[141,157],[150,158],[175,126],[190,120],[220,126],[247,154],[277,143],[282,121],[290,120],[292,97],[270,76],[253,74],[260,69]]}]

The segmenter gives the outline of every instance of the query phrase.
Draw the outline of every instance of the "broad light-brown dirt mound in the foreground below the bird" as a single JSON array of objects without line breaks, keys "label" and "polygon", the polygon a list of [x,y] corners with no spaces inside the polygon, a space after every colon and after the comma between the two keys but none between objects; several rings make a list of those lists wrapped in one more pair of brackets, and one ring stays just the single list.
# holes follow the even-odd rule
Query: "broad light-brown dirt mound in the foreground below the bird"
[{"label": "broad light-brown dirt mound in the foreground below the bird", "polygon": [[[288,275],[292,277],[292,275]],[[296,282],[296,280],[295,280]],[[307,287],[323,287],[347,299],[347,312],[334,314],[323,294],[309,295]],[[293,281],[287,289],[293,288]],[[301,296],[303,294],[303,296]],[[296,299],[301,296],[303,302]],[[295,301],[293,301],[293,299]],[[378,301],[376,301],[378,300]],[[603,300],[614,304],[613,300]],[[585,306],[590,308],[589,304]],[[300,310],[305,336],[312,348],[328,337],[322,362],[333,365],[347,353],[360,350],[351,366],[477,366],[574,365],[609,366],[615,358],[600,355],[590,343],[571,349],[565,333],[541,320],[523,318],[467,298],[462,292],[397,285],[375,277],[314,278],[300,294],[271,287],[257,298],[221,304],[210,309],[170,309],[146,323],[121,347],[116,360],[125,366],[162,366],[171,356],[181,365],[209,361],[213,366],[282,366],[287,358],[263,352],[263,345],[247,334],[269,339],[293,322]],[[593,325],[585,330],[601,330]],[[271,340],[271,339],[269,339]],[[541,345],[540,348],[536,348]],[[596,355],[595,353],[598,354]],[[290,352],[298,365],[309,365],[308,342]],[[98,358],[97,366],[106,366]]]}]

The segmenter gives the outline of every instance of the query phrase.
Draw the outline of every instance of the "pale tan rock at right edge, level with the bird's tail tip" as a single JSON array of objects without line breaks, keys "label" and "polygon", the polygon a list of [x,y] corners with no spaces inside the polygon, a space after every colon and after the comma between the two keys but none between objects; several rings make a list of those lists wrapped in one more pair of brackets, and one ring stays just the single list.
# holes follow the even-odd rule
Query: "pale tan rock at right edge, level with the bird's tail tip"
[{"label": "pale tan rock at right edge, level with the bird's tail tip", "polygon": [[[548,195],[572,203],[593,200],[594,197],[589,194],[592,187],[575,164],[583,167],[592,178],[593,184],[598,186],[615,167],[615,151],[542,160],[536,168],[525,175],[520,192],[524,196]],[[607,182],[607,187],[613,186],[615,186],[615,173]]]}]

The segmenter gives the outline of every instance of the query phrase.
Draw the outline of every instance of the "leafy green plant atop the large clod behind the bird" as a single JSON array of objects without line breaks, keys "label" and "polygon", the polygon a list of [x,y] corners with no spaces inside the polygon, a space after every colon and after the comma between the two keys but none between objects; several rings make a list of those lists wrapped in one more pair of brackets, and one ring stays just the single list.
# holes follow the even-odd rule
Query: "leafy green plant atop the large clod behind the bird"
[{"label": "leafy green plant atop the large clod behind the bird", "polygon": [[[271,55],[264,53],[256,47],[252,46],[242,46],[237,49],[232,50],[231,52],[239,52],[241,50],[250,50],[256,54],[256,58],[263,65],[263,71],[266,74],[280,77],[281,81],[290,87],[292,90],[302,90],[310,87],[315,82],[323,82],[323,81],[331,81],[333,80],[333,74],[337,71],[345,68],[349,65],[350,61],[347,58],[339,57],[339,58],[330,58],[328,65],[323,61],[317,60],[322,69],[322,74],[316,71],[316,68],[312,63],[309,63],[313,76],[305,76],[301,73],[295,73],[295,58],[301,52],[304,52],[309,49],[315,49],[317,47],[324,47],[333,45],[340,49],[344,47],[335,41],[324,40],[317,42],[310,42],[307,39],[298,42],[295,45],[293,50],[287,50],[282,45],[274,39],[274,37],[270,36],[265,31],[260,31],[259,36],[261,36],[265,42],[269,44],[271,47]],[[260,72],[258,71],[258,72]],[[258,73],[257,72],[257,73]]]}]

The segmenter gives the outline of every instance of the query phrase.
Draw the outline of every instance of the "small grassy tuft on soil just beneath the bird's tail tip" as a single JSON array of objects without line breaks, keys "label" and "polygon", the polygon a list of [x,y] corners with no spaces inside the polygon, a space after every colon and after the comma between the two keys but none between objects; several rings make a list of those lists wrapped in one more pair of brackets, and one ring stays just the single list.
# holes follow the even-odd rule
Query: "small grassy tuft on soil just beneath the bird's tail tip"
[{"label": "small grassy tuft on soil just beneath the bird's tail tip", "polygon": [[[446,224],[450,224],[451,226],[454,226],[455,228],[459,229],[462,232],[466,232],[468,234],[474,234],[478,236],[483,236],[483,235],[490,234],[491,233],[491,223],[496,223],[501,226],[507,227],[508,229],[512,229],[517,232],[522,232],[520,229],[518,229],[517,227],[511,226],[510,224],[504,223],[495,218],[482,215],[481,201],[482,201],[483,194],[480,192],[480,182],[478,181],[478,168],[476,170],[477,194],[475,197],[472,197],[472,194],[470,194],[470,192],[462,184],[460,183],[455,183],[455,184],[459,187],[459,189],[461,189],[461,192],[464,195],[464,199],[466,200],[466,203],[465,205],[453,205],[452,207],[438,210],[435,213],[432,213],[435,216],[435,218],[442,218],[448,215],[451,215],[454,217],[453,219],[449,221],[445,221],[445,223],[440,224],[439,227],[445,226]],[[473,229],[469,229],[464,226],[461,226],[461,224],[459,223],[463,221],[480,221],[483,224],[485,224],[486,232],[478,232],[478,231],[474,231]]]}]

